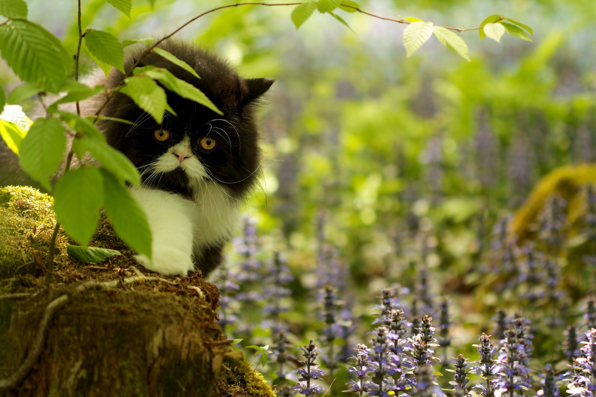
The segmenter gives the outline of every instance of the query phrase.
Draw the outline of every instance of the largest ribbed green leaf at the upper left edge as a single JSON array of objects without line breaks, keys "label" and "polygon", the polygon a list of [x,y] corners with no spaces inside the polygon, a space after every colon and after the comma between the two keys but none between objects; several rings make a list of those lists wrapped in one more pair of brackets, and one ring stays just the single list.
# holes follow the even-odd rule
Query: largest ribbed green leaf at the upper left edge
[{"label": "largest ribbed green leaf at the upper left edge", "polygon": [[70,65],[60,40],[29,21],[11,21],[0,29],[0,51],[18,77],[49,91],[60,87]]}]

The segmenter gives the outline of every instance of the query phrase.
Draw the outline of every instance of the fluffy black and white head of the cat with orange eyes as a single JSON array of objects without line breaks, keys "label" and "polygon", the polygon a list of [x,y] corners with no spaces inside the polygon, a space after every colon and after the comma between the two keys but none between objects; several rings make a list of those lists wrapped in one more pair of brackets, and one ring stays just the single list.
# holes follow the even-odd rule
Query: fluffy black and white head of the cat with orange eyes
[{"label": "fluffy black and white head of the cat with orange eyes", "polygon": [[[243,198],[260,167],[254,105],[273,80],[241,79],[225,62],[184,43],[160,46],[190,64],[201,79],[157,54],[149,54],[139,66],[167,68],[203,91],[224,115],[166,90],[176,116],[166,112],[162,123],[156,124],[132,99],[117,93],[103,113],[134,126],[100,121],[108,143],[131,159],[145,186],[193,196],[201,181],[211,180],[233,198]],[[140,54],[128,57],[126,70]],[[108,86],[117,86],[122,78],[121,73],[110,74]]]}]

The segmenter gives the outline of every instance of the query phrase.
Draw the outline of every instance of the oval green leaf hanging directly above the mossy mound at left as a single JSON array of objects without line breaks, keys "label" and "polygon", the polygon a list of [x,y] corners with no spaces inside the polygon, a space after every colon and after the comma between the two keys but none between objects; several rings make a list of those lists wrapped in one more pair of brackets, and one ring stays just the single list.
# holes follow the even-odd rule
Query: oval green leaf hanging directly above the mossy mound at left
[{"label": "oval green leaf hanging directly above the mossy mound at left", "polygon": [[19,163],[30,177],[50,190],[49,178],[64,159],[66,134],[57,118],[39,118],[21,142]]}]

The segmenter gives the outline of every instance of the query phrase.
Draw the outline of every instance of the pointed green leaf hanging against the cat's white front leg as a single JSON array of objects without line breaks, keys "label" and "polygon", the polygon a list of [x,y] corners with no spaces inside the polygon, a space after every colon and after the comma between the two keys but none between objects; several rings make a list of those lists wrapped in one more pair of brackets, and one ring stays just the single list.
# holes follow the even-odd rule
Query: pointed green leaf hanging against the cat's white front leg
[{"label": "pointed green leaf hanging against the cat's white front leg", "polygon": [[117,235],[132,249],[151,258],[151,230],[147,215],[131,192],[107,170],[104,179],[104,210]]}]

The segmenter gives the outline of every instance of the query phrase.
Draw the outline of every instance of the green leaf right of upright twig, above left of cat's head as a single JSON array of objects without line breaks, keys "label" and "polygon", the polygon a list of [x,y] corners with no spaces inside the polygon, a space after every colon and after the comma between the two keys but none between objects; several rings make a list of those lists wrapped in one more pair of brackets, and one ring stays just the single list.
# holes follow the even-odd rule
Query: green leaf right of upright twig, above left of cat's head
[{"label": "green leaf right of upright twig, above left of cat's head", "polygon": [[105,76],[108,76],[112,66],[125,73],[122,44],[111,33],[103,32],[103,30],[89,30],[85,33],[85,48],[89,51],[91,58],[100,65]]}]

